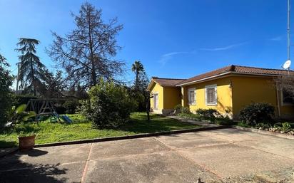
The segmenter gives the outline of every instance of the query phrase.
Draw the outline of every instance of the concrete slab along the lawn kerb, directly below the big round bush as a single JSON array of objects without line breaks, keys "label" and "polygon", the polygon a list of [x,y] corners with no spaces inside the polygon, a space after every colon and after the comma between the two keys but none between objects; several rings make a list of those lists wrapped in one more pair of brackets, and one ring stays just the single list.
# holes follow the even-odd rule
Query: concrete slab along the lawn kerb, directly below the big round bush
[{"label": "concrete slab along the lawn kerb, directly below the big round bush", "polygon": [[151,152],[168,151],[169,149],[157,142],[152,137],[118,140],[111,142],[93,143],[90,160],[98,160],[105,157],[121,157],[126,155],[138,155]]}]

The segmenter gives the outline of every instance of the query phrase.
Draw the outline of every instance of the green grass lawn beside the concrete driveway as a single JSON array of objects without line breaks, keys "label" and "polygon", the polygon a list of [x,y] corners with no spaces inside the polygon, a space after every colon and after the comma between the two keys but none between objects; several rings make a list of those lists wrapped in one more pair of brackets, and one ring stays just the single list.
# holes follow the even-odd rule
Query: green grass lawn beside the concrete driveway
[{"label": "green grass lawn beside the concrete driveway", "polygon": [[50,122],[45,120],[39,125],[31,122],[18,125],[14,129],[0,133],[0,148],[14,147],[18,144],[17,132],[36,132],[36,144],[50,142],[66,142],[71,140],[86,140],[97,137],[116,137],[122,135],[135,135],[148,132],[163,132],[170,130],[190,129],[198,127],[186,122],[179,122],[168,117],[151,114],[151,122],[146,121],[146,113],[133,113],[131,121],[115,129],[98,130],[91,126],[91,122],[81,115],[68,115],[74,122],[72,124]]}]

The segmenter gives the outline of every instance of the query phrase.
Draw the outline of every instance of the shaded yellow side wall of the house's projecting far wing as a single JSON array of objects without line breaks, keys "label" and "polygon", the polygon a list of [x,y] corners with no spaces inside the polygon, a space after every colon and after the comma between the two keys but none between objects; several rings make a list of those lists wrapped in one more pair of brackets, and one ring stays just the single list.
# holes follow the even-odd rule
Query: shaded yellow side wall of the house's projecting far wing
[{"label": "shaded yellow side wall of the house's projecting far wing", "polygon": [[181,88],[180,87],[163,87],[163,109],[173,110],[173,108],[181,104]]}]

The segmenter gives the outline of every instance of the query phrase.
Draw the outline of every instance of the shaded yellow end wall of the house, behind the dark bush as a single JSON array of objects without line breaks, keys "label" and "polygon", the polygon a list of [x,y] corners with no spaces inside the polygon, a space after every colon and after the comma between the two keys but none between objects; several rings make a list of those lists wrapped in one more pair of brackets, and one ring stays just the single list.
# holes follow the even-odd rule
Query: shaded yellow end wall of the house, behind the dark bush
[{"label": "shaded yellow end wall of the house, behind the dark bush", "polygon": [[294,117],[294,106],[282,105],[282,96],[275,88],[271,77],[259,76],[232,76],[233,84],[233,114],[238,118],[240,110],[250,103],[270,103],[275,107],[275,116],[278,116],[278,100],[280,103],[280,117]]}]

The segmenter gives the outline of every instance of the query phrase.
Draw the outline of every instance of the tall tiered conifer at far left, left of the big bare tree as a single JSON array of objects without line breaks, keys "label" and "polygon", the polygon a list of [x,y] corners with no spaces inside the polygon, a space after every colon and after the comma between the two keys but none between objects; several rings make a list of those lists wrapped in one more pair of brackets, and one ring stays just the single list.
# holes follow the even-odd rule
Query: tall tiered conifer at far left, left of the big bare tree
[{"label": "tall tiered conifer at far left, left of the big bare tree", "polygon": [[19,56],[21,88],[33,91],[34,96],[36,96],[37,87],[41,85],[42,68],[45,68],[40,58],[36,56],[36,45],[39,43],[34,38],[19,38],[19,43],[17,43],[19,48],[16,48],[16,51],[21,53]]}]

